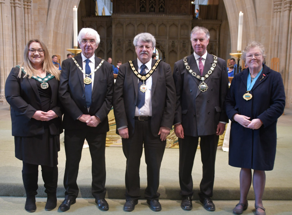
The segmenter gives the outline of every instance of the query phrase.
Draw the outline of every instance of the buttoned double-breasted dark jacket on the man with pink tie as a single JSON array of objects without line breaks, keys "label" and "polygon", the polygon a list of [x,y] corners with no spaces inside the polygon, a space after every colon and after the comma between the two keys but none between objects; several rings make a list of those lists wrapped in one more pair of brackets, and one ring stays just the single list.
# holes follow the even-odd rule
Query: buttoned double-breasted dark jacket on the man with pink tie
[{"label": "buttoned double-breasted dark jacket on the man with pink tie", "polygon": [[[194,55],[187,57],[190,68],[199,73]],[[213,55],[207,54],[203,76],[213,64]],[[218,58],[213,73],[204,81],[208,89],[199,90],[199,79],[184,67],[183,60],[174,64],[173,79],[176,88],[174,124],[182,123],[184,134],[198,137],[216,133],[219,122],[228,122],[223,103],[228,91],[228,74],[225,60]]]}]

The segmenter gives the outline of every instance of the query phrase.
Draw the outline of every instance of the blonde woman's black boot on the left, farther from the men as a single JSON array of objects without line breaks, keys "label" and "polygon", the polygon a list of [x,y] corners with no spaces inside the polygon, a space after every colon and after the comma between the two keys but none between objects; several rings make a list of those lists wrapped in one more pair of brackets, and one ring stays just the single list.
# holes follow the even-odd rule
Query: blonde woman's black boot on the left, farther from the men
[{"label": "blonde woman's black boot on the left, farther from the men", "polygon": [[22,171],[22,180],[26,193],[25,210],[27,212],[36,211],[35,195],[37,194],[36,190],[39,188],[39,186],[37,185],[38,174],[38,172],[24,173]]}]

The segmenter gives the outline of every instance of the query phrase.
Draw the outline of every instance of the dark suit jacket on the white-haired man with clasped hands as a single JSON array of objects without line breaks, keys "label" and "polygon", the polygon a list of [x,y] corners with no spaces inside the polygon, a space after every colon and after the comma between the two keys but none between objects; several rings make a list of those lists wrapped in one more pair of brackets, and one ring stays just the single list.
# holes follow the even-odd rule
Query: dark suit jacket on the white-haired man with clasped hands
[{"label": "dark suit jacket on the white-haired man with clasped hands", "polygon": [[[82,68],[82,57],[74,57]],[[95,68],[101,59],[95,57]],[[64,106],[64,129],[87,128],[94,132],[107,132],[109,130],[107,114],[112,108],[112,91],[114,87],[114,75],[112,65],[104,61],[102,66],[95,71],[92,89],[92,103],[89,112],[86,107],[83,73],[74,63],[72,58],[62,62],[60,76],[59,97]],[[101,123],[97,127],[87,126],[77,118],[82,114],[98,116]]]}]

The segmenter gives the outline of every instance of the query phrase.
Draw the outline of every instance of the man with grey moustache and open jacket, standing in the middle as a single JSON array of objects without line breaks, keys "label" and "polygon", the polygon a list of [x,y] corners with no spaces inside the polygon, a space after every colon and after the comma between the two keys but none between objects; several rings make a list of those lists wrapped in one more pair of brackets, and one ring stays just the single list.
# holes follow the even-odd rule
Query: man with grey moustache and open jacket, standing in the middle
[{"label": "man with grey moustache and open jacket, standing in the middle", "polygon": [[160,211],[159,172],[173,123],[175,87],[170,65],[152,59],[154,36],[138,34],[133,44],[138,58],[120,66],[113,95],[117,134],[127,158],[124,210],[133,211],[140,197],[139,167],[144,144],[145,198],[153,211]]}]

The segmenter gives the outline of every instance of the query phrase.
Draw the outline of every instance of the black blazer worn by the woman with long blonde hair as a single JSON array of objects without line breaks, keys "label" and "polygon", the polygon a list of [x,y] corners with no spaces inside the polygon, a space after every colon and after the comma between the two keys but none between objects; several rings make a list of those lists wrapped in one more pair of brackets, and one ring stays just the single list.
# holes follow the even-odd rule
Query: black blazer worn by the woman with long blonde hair
[{"label": "black blazer worn by the woman with long blonde hair", "polygon": [[[36,111],[41,110],[41,98],[34,78],[18,77],[19,68],[11,69],[5,83],[5,97],[11,106],[12,135],[29,137],[44,134],[43,121],[32,118]],[[56,78],[48,80],[51,87],[50,110],[53,110],[58,118],[48,121],[50,134],[58,135],[63,132],[62,110],[58,100],[59,81]]]}]

